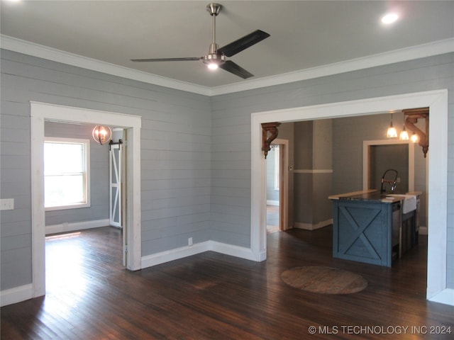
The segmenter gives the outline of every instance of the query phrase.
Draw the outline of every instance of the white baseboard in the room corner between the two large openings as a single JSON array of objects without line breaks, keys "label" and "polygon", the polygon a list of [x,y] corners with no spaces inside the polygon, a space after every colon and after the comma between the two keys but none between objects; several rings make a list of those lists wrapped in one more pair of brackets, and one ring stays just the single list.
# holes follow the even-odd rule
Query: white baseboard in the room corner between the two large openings
[{"label": "white baseboard in the room corner between the two large openings", "polygon": [[215,241],[205,241],[196,243],[192,246],[182,246],[181,248],[161,251],[157,254],[142,256],[141,268],[157,266],[158,264],[183,259],[187,256],[192,256],[205,251],[216,251],[217,253],[236,256],[241,259],[257,261],[253,256],[253,252],[249,248],[243,246],[233,246]]}]

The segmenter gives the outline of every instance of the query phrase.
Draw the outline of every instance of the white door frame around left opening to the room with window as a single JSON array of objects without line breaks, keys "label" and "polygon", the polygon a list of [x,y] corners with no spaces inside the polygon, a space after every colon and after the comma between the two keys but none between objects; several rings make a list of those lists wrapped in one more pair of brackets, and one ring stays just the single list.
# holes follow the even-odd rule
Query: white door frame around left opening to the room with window
[{"label": "white door frame around left opening to the room with window", "polygon": [[140,207],[140,126],[142,118],[107,111],[60,106],[31,101],[31,227],[33,297],[45,295],[45,210],[43,143],[45,120],[63,123],[105,124],[128,132],[126,159],[126,225],[129,251],[126,268],[140,269],[141,207]]}]

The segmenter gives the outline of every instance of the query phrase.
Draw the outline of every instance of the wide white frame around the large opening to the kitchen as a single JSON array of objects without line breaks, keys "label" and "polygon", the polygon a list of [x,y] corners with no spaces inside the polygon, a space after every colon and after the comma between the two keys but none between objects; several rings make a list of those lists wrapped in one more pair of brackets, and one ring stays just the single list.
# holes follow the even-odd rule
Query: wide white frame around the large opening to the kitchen
[{"label": "wide white frame around the large opening to the kitchen", "polygon": [[448,215],[448,90],[343,101],[251,115],[251,250],[256,261],[266,259],[266,168],[261,123],[291,122],[355,115],[389,113],[404,108],[429,107],[428,159],[428,300],[453,305],[454,290],[446,288],[446,235]]}]

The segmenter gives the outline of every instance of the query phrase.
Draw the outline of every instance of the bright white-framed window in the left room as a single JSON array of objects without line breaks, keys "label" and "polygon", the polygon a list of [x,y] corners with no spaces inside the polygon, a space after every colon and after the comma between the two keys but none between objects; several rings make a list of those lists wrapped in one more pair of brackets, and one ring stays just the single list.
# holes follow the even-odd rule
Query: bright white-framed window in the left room
[{"label": "bright white-framed window in the left room", "polygon": [[90,206],[89,146],[89,140],[45,137],[45,210]]}]

